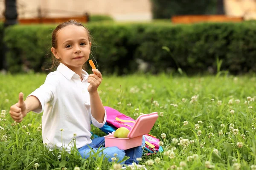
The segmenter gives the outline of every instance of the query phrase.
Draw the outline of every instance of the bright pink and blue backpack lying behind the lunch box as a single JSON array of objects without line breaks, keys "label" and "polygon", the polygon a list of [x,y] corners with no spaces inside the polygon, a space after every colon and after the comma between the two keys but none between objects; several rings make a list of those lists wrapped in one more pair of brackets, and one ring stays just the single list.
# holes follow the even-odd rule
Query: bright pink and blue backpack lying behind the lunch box
[{"label": "bright pink and blue backpack lying behind the lunch box", "polygon": [[[131,130],[135,123],[134,119],[108,106],[105,106],[104,108],[107,113],[107,121],[103,127],[99,128],[100,130],[107,134],[116,131],[119,127],[126,127],[128,130]],[[163,151],[163,148],[159,146],[160,140],[157,139],[156,136],[150,134],[143,136],[145,137],[145,149],[149,154]]]}]

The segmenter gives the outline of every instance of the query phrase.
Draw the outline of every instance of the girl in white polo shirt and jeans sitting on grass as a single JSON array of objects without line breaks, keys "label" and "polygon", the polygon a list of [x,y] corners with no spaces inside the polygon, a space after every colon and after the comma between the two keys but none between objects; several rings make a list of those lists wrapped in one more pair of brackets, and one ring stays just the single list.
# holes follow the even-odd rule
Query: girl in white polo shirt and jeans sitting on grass
[{"label": "girl in white polo shirt and jeans sitting on grass", "polygon": [[[12,119],[16,122],[21,122],[30,111],[44,111],[44,144],[50,150],[64,148],[70,153],[70,143],[76,138],[76,147],[83,158],[89,157],[90,147],[102,150],[105,146],[104,137],[90,139],[90,124],[100,128],[106,122],[106,111],[97,91],[102,74],[97,69],[93,69],[94,74],[90,75],[83,70],[89,59],[90,48],[91,37],[82,23],[70,20],[58,25],[52,33],[51,48],[54,55],[52,67],[59,63],[57,71],[49,73],[44,84],[29,94],[25,101],[23,93],[20,93],[19,101],[10,108]],[[119,160],[126,155],[130,158],[125,164],[138,164],[136,159],[142,156],[142,146],[129,150],[107,147],[102,150],[102,154],[109,161],[116,154]]]}]

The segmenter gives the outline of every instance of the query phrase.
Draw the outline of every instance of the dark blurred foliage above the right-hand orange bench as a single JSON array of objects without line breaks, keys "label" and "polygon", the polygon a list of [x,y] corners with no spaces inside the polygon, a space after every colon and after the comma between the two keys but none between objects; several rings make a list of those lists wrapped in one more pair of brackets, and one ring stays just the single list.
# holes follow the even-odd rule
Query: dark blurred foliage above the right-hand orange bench
[{"label": "dark blurred foliage above the right-hand orange bench", "polygon": [[184,14],[216,14],[217,0],[151,0],[154,18]]}]

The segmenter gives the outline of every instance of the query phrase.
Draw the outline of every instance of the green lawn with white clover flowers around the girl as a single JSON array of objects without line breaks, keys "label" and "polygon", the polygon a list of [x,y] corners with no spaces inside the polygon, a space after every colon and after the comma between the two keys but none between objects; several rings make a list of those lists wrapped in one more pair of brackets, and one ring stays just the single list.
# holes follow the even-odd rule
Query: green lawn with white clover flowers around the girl
[{"label": "green lawn with white clover flowers around the girl", "polygon": [[[6,116],[1,115],[6,120],[0,122],[4,128],[0,130],[0,169],[114,169],[115,162],[108,163],[102,158],[81,159],[76,150],[72,154],[48,151],[41,137],[42,113],[31,112],[23,122],[14,124],[9,116],[9,108],[18,101],[18,93],[22,91],[26,97],[43,84],[45,78],[45,74],[0,75],[0,110],[6,110]],[[256,164],[256,101],[250,101],[249,104],[244,102],[248,96],[256,98],[255,87],[256,77],[249,75],[238,78],[189,78],[160,74],[104,77],[99,92],[105,106],[115,108],[134,119],[140,113],[159,113],[150,133],[164,143],[165,152],[143,156],[140,164],[145,164],[149,170],[166,170],[172,165],[180,167],[180,162],[184,165],[183,169],[204,170],[208,165],[222,170],[236,169],[236,165],[239,165],[240,169],[248,170]],[[191,102],[195,95],[198,98],[193,97]],[[241,102],[238,103],[236,99]],[[127,105],[129,103],[131,106]],[[234,113],[230,113],[230,110]],[[184,121],[188,121],[188,124],[183,125]],[[200,126],[198,129],[195,129],[196,124]],[[233,129],[238,129],[238,134]],[[95,127],[92,131],[104,135]],[[166,134],[165,139],[162,139],[162,133]],[[178,139],[178,143],[173,142],[175,139]],[[182,146],[182,142],[185,146]],[[238,147],[238,142],[243,146]],[[154,164],[148,165],[151,160]],[[35,167],[35,163],[39,167]]]}]

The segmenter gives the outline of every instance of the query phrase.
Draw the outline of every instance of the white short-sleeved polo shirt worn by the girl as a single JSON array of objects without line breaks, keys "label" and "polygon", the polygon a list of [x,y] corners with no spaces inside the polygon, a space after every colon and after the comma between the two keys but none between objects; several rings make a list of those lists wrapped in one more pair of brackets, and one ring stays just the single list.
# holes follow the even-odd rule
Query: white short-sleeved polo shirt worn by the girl
[{"label": "white short-sleeved polo shirt worn by the girl", "polygon": [[64,147],[70,152],[74,133],[77,135],[77,148],[90,144],[90,122],[99,128],[105,124],[106,112],[102,123],[91,115],[90,96],[87,90],[90,85],[87,82],[88,76],[87,72],[82,70],[81,81],[78,74],[60,63],[57,71],[49,73],[44,84],[29,94],[36,96],[41,102],[42,109],[36,109],[34,112],[44,111],[42,136],[44,144],[47,143],[50,150],[56,145],[57,148]]}]

